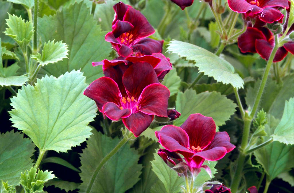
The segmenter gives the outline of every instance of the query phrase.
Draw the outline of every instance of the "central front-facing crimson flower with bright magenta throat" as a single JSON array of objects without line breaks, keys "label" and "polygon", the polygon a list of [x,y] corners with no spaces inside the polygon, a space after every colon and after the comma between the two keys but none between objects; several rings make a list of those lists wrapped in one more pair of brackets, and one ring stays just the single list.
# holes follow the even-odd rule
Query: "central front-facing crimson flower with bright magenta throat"
[{"label": "central front-facing crimson flower with bright magenta throat", "polygon": [[109,77],[93,81],[84,95],[93,99],[100,112],[123,124],[138,137],[151,124],[154,115],[167,117],[170,91],[159,83],[150,64],[131,65],[124,72],[122,86]]}]

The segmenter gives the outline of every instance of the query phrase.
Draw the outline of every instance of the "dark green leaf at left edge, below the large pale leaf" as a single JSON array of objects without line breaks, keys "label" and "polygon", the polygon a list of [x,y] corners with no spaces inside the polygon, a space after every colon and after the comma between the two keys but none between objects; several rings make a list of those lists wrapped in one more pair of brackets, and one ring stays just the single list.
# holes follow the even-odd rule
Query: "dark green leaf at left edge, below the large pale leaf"
[{"label": "dark green leaf at left edge, below the large pale leaf", "polygon": [[33,165],[34,148],[31,140],[19,132],[0,134],[0,179],[13,187],[19,185],[21,172]]}]

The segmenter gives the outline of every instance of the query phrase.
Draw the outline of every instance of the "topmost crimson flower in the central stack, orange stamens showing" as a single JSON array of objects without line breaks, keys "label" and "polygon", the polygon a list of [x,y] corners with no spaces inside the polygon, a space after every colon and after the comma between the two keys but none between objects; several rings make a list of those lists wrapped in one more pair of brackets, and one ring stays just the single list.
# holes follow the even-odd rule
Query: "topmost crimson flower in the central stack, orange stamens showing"
[{"label": "topmost crimson flower in the central stack, orange stamens showing", "polygon": [[163,41],[146,38],[155,30],[140,11],[122,2],[115,4],[113,9],[112,31],[106,34],[105,40],[111,42],[120,56],[161,53]]}]

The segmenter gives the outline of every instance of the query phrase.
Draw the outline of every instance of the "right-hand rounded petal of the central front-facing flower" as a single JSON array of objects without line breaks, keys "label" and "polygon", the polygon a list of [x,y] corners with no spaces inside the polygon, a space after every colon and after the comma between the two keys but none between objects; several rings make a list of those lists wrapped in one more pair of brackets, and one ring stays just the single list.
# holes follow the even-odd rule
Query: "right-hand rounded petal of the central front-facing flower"
[{"label": "right-hand rounded petal of the central front-facing flower", "polygon": [[170,91],[162,84],[155,83],[146,86],[138,99],[139,111],[167,117],[169,95]]}]

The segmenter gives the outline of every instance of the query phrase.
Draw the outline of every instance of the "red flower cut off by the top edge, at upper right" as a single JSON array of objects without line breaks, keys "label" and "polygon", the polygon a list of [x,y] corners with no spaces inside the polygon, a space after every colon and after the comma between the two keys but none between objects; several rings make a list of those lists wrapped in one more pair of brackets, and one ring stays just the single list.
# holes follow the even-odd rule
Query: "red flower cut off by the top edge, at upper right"
[{"label": "red flower cut off by the top edge, at upper right", "polygon": [[235,12],[243,13],[245,18],[257,17],[266,23],[282,23],[284,15],[278,8],[288,8],[288,0],[228,0],[228,6]]}]

